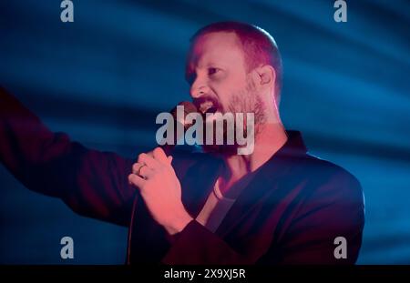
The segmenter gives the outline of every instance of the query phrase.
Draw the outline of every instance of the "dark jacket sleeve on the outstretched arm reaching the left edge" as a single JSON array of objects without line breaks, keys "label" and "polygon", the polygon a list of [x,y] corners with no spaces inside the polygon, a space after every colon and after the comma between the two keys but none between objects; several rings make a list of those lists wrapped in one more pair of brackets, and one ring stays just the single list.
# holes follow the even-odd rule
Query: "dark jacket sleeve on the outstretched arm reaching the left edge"
[{"label": "dark jacket sleeve on the outstretched arm reaching the left edge", "polygon": [[80,215],[128,226],[132,161],[51,132],[0,87],[0,160],[26,187],[60,197]]}]

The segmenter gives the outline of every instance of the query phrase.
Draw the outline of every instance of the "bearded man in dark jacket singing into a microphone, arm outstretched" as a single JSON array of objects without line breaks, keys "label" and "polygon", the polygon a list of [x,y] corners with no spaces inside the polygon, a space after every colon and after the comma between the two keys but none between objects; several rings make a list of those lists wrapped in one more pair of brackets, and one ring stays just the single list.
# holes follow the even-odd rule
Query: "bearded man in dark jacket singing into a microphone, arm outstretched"
[{"label": "bearded man in dark jacket singing into a microphone, arm outstretched", "polygon": [[[238,154],[238,143],[172,156],[157,147],[136,162],[50,132],[1,89],[0,158],[26,187],[128,226],[128,263],[353,264],[362,188],[284,129],[272,36],[237,22],[207,25],[191,39],[186,78],[203,116],[253,114],[249,154]],[[251,126],[242,124],[244,132]],[[345,239],[341,254],[336,238]]]}]

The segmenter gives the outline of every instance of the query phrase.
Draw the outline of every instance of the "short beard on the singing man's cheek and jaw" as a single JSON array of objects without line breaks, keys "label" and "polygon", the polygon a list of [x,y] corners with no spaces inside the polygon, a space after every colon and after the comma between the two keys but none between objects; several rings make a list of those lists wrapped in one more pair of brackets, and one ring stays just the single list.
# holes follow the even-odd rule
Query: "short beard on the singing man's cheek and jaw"
[{"label": "short beard on the singing man's cheek and jaw", "polygon": [[[263,104],[261,100],[261,96],[258,95],[256,91],[256,86],[251,79],[247,79],[247,84],[244,89],[239,91],[236,94],[231,96],[231,101],[228,106],[228,111],[223,111],[222,114],[227,112],[232,113],[234,116],[236,113],[243,113],[244,114],[244,121],[246,122],[246,113],[253,113],[254,115],[254,136],[256,137],[261,129],[261,126],[266,123],[266,113],[265,113],[266,106]],[[236,128],[236,119],[234,129]],[[225,123],[224,123],[225,124]],[[243,135],[246,136],[247,128],[246,123],[243,125]],[[215,124],[214,124],[215,128]],[[207,153],[214,153],[223,156],[232,156],[236,155],[238,152],[238,145],[236,143],[236,130],[235,138],[233,145],[226,145],[227,141],[227,127],[224,125],[223,127],[223,145],[216,145],[215,143],[215,136],[213,138],[214,143],[212,145],[204,144],[203,150]],[[215,135],[215,131],[214,131]]]}]

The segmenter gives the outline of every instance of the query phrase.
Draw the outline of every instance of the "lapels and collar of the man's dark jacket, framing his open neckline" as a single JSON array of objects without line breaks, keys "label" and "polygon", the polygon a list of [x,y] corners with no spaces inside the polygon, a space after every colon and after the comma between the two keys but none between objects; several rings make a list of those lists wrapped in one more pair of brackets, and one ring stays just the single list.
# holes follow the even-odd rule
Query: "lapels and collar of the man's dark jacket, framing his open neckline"
[{"label": "lapels and collar of the man's dark jacket, framing his open neckline", "polygon": [[[286,131],[288,136],[285,144],[261,167],[252,172],[250,183],[241,191],[230,211],[223,219],[216,234],[223,236],[231,227],[241,222],[241,218],[255,207],[263,196],[270,190],[278,187],[283,176],[288,176],[295,158],[306,155],[302,135],[299,131]],[[204,162],[193,167],[184,179],[182,200],[192,217],[200,213],[212,191],[223,162],[220,158],[207,157]]]}]

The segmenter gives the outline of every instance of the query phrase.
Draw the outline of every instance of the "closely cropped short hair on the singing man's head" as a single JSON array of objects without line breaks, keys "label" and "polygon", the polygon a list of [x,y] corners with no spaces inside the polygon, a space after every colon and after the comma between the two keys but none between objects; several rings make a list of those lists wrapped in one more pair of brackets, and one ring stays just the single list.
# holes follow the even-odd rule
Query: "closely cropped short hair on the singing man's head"
[{"label": "closely cropped short hair on the singing man's head", "polygon": [[195,43],[202,35],[217,32],[233,32],[238,36],[248,71],[261,65],[270,65],[275,69],[275,99],[279,104],[282,89],[282,56],[272,35],[256,25],[241,22],[218,22],[200,28],[192,35],[190,43]]}]

